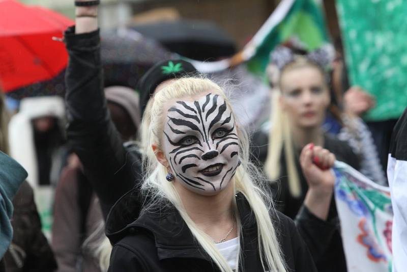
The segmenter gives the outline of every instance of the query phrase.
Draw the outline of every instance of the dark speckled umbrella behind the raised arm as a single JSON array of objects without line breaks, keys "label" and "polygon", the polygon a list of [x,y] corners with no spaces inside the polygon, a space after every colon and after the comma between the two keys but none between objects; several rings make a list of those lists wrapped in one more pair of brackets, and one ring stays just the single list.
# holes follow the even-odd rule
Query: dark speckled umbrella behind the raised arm
[{"label": "dark speckled umbrella behind the raised arm", "polygon": [[[156,62],[173,58],[174,54],[158,42],[133,30],[101,33],[101,53],[105,86],[121,85],[135,89],[138,79]],[[65,94],[65,69],[50,80],[15,89],[9,97]]]}]

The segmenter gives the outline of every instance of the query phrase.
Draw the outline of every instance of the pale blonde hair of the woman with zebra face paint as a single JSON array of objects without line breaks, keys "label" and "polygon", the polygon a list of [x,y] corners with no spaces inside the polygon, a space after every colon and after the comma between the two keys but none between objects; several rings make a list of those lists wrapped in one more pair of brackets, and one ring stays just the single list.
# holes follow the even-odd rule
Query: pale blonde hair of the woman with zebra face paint
[{"label": "pale blonde hair of the woman with zebra face paint", "polygon": [[[197,95],[206,91],[213,91],[222,96],[231,108],[224,91],[209,79],[187,77],[174,80],[161,89],[153,99],[150,99],[142,121],[142,146],[146,148],[146,178],[142,185],[145,195],[151,197],[150,205],[165,204],[168,200],[180,212],[193,236],[201,245],[213,262],[222,272],[231,272],[225,258],[217,250],[212,239],[191,220],[186,212],[182,200],[172,182],[165,180],[166,168],[159,164],[151,148],[152,144],[160,148],[162,137],[162,115],[164,104],[171,99],[182,99],[187,96]],[[236,120],[236,119],[235,119]],[[258,178],[258,171],[249,163],[249,138],[247,133],[239,126],[239,156],[242,165],[238,168],[232,182],[235,193],[242,193],[253,210],[257,223],[258,250],[261,263],[266,270],[286,271],[286,264],[276,237],[276,231],[270,218],[270,212],[275,212],[271,194],[265,191],[265,182]],[[237,203],[234,200],[235,215],[238,221],[238,229],[241,233],[242,224],[237,211]],[[243,237],[244,238],[244,237]],[[243,254],[242,252],[240,254]],[[240,258],[240,257],[238,257]],[[239,263],[239,262],[238,262]]]}]

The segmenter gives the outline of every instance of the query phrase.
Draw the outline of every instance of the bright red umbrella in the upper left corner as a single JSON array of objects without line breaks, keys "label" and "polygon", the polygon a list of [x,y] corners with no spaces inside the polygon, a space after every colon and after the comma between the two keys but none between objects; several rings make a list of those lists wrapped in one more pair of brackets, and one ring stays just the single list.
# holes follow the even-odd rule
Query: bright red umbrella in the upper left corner
[{"label": "bright red umbrella in the upper left corner", "polygon": [[54,11],[0,0],[0,81],[6,92],[46,80],[67,65],[62,37],[73,21]]}]

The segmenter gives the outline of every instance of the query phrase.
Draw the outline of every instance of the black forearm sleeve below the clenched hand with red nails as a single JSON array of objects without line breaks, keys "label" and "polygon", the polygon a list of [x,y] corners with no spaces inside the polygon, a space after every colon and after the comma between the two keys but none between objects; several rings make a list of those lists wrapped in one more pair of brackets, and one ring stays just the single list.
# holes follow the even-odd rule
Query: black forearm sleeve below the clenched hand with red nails
[{"label": "black forearm sleeve below the clenched hand with red nails", "polygon": [[295,223],[301,237],[308,246],[313,260],[318,262],[327,250],[327,246],[337,230],[337,225],[319,219],[304,205],[300,208]]}]

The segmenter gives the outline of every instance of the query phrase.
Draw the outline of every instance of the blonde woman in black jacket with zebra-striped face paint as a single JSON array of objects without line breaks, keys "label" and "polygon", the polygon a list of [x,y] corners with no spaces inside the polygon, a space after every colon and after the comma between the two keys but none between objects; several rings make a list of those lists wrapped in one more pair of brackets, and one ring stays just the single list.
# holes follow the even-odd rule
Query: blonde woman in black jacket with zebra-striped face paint
[{"label": "blonde woman in black jacket with zebra-striped face paint", "polygon": [[[143,127],[143,210],[107,231],[109,271],[315,271],[294,223],[261,187],[248,136],[218,85],[192,77],[166,83]],[[131,218],[137,190],[113,206],[108,221]]]}]

